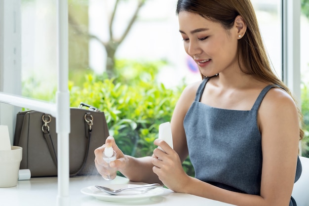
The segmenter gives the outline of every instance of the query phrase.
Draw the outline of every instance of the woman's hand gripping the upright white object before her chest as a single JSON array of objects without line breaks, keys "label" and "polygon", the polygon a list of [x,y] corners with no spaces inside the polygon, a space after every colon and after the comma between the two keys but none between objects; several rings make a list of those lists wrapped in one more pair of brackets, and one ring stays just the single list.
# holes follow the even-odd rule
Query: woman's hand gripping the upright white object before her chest
[{"label": "woman's hand gripping the upright white object before her chest", "polygon": [[154,173],[169,189],[174,192],[183,192],[189,176],[182,167],[179,155],[161,139],[154,140],[154,145],[160,146],[165,151],[154,149],[152,160]]}]

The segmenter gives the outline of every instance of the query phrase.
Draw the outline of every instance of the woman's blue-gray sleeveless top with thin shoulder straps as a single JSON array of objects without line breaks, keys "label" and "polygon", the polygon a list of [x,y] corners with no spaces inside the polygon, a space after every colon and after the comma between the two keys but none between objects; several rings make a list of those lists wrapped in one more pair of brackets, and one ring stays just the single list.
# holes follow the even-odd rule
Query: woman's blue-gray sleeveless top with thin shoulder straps
[{"label": "woman's blue-gray sleeveless top with thin shoulder straps", "polygon": [[[260,195],[263,160],[257,114],[264,96],[274,85],[261,91],[250,111],[239,111],[199,102],[208,80],[204,79],[198,87],[184,119],[195,177],[227,190]],[[295,182],[301,172],[298,158]],[[290,206],[296,206],[293,198]]]}]

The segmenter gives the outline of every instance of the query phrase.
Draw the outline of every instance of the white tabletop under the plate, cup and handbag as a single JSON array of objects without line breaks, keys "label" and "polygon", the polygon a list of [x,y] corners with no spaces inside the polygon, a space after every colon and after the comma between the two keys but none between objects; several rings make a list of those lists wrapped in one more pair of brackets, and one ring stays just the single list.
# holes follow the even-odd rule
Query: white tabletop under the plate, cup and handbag
[{"label": "white tabletop under the plate, cup and handbag", "polygon": [[[101,176],[80,176],[70,178],[71,206],[231,206],[226,203],[197,197],[194,195],[174,193],[163,188],[164,193],[150,199],[115,203],[97,200],[94,197],[82,194],[84,187],[104,184],[142,184],[130,182],[128,179],[117,176],[113,181],[106,181]],[[1,206],[57,206],[57,177],[39,177],[30,180],[18,181],[17,186],[0,188]]]}]

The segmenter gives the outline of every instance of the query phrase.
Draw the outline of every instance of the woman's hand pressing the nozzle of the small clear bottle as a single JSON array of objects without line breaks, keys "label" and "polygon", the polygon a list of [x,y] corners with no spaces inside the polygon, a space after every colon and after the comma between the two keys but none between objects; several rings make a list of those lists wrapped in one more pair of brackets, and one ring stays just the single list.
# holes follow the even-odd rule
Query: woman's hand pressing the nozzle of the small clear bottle
[{"label": "woman's hand pressing the nozzle of the small clear bottle", "polygon": [[116,170],[118,170],[119,168],[123,168],[126,162],[125,156],[122,153],[122,151],[118,148],[118,146],[116,145],[114,137],[109,136],[106,139],[104,145],[94,150],[94,155],[95,155],[94,163],[95,163],[95,166],[98,172],[102,176],[106,176],[110,174],[110,171],[108,170],[109,165],[103,160],[103,152],[107,146],[108,147],[112,146],[113,150],[116,152],[116,160],[110,163],[110,167],[115,167]]}]

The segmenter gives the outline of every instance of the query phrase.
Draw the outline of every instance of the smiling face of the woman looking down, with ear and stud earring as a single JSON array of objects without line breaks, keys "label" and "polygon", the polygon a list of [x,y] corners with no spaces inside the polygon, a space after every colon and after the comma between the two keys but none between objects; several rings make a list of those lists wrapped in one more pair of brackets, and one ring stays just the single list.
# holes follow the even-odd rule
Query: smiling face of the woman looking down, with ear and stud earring
[{"label": "smiling face of the woman looking down, with ear and stud earring", "polygon": [[[235,22],[239,21],[237,18],[242,20],[237,16]],[[181,11],[178,20],[185,50],[197,63],[202,75],[211,77],[231,69],[239,70],[237,42],[242,31],[237,23],[226,30],[220,23],[188,11]]]}]

